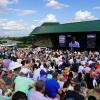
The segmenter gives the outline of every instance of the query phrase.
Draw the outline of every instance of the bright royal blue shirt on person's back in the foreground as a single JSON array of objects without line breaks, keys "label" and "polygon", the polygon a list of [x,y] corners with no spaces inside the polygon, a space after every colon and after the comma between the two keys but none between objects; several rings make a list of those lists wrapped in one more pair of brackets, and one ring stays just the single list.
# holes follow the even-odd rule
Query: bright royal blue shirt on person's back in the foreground
[{"label": "bright royal blue shirt on person's back in the foreground", "polygon": [[46,80],[45,82],[46,93],[50,98],[56,98],[58,89],[60,88],[59,83],[54,79]]}]

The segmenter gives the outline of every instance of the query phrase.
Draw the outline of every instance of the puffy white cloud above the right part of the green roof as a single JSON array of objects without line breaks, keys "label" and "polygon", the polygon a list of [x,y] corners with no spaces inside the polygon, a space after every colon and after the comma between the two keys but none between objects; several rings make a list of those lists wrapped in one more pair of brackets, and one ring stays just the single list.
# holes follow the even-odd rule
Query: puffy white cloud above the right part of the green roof
[{"label": "puffy white cloud above the right part of the green roof", "polygon": [[73,21],[80,22],[80,21],[89,21],[89,20],[97,20],[98,18],[93,16],[89,11],[77,11],[74,15]]}]

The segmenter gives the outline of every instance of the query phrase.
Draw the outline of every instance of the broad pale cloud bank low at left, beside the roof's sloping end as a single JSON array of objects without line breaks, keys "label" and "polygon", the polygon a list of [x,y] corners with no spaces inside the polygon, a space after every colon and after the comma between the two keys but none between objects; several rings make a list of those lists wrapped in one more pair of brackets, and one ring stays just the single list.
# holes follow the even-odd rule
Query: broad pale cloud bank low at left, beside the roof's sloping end
[{"label": "broad pale cloud bank low at left, beside the roof's sloping end", "polygon": [[34,27],[23,20],[0,19],[0,36],[26,36]]}]

